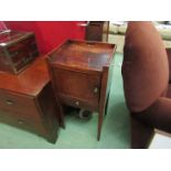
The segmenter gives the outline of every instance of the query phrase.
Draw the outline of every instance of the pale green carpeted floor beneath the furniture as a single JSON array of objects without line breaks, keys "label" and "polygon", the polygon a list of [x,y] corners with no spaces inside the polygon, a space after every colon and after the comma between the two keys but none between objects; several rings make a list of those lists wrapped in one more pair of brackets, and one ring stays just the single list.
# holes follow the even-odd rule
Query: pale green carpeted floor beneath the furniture
[{"label": "pale green carpeted floor beneath the furniture", "polygon": [[116,54],[114,61],[114,77],[109,95],[107,116],[104,121],[101,139],[96,140],[97,114],[88,121],[81,120],[75,114],[66,115],[66,128],[61,129],[55,145],[45,139],[0,124],[0,148],[33,148],[33,149],[125,149],[130,148],[129,115],[125,105],[122,79],[122,55]]}]

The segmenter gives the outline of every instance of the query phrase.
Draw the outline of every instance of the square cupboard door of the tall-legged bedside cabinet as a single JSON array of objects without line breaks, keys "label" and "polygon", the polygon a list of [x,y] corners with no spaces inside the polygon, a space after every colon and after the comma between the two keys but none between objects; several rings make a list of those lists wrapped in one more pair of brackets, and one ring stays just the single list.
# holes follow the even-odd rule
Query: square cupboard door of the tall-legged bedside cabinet
[{"label": "square cupboard door of the tall-legged bedside cabinet", "polygon": [[100,75],[54,68],[56,93],[98,103],[100,93]]}]

